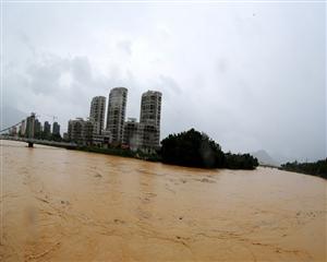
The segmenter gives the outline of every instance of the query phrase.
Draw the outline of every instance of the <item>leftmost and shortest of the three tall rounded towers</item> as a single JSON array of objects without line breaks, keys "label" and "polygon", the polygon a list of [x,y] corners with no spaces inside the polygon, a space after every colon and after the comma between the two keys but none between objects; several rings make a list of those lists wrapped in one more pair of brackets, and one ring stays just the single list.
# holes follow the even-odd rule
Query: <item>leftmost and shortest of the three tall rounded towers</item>
[{"label": "leftmost and shortest of the three tall rounded towers", "polygon": [[90,102],[89,120],[94,134],[101,134],[105,126],[106,97],[95,96]]}]

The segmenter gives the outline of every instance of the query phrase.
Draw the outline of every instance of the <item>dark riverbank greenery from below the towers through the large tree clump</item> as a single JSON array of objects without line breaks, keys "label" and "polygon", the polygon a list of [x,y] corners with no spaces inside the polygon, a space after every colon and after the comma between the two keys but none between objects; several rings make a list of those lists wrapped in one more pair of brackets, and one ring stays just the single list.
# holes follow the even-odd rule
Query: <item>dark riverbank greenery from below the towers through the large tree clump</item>
[{"label": "dark riverbank greenery from below the towers through the large tree clump", "polygon": [[161,141],[161,148],[153,154],[121,146],[77,146],[75,150],[189,167],[255,169],[258,165],[250,154],[225,154],[218,143],[194,129],[170,134]]}]

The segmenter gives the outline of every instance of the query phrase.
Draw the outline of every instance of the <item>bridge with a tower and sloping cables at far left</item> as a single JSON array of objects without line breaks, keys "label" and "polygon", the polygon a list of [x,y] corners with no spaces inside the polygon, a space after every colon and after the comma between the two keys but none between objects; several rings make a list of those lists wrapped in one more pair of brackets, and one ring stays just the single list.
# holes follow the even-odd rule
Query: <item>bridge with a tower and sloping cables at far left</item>
[{"label": "bridge with a tower and sloping cables at far left", "polygon": [[[53,117],[55,119],[55,117]],[[11,140],[11,141],[17,141],[17,142],[26,142],[28,144],[28,147],[33,147],[34,144],[41,144],[41,145],[50,145],[50,146],[57,146],[57,147],[64,147],[64,148],[75,148],[77,147],[76,143],[68,143],[68,142],[58,142],[58,141],[52,141],[52,140],[41,140],[41,139],[35,139],[34,133],[35,133],[35,120],[36,116],[34,112],[31,114],[29,117],[27,117],[26,121],[29,121],[29,126],[33,126],[33,128],[29,127],[29,132],[27,136],[17,136],[17,135],[10,135],[10,134],[1,134],[5,131],[10,131],[13,128],[20,127],[25,119],[22,121],[8,127],[5,129],[0,130],[0,140]]]}]

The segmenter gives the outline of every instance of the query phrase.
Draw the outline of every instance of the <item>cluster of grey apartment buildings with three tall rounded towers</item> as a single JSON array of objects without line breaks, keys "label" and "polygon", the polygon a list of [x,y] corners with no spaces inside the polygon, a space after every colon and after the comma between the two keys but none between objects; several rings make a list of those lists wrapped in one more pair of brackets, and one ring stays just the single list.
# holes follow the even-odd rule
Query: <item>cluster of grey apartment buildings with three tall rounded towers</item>
[{"label": "cluster of grey apartment buildings with three tall rounded towers", "polygon": [[142,95],[140,122],[126,117],[128,88],[114,87],[109,93],[105,128],[106,97],[92,99],[89,118],[69,121],[66,139],[81,144],[122,146],[133,151],[154,152],[160,143],[161,93]]}]

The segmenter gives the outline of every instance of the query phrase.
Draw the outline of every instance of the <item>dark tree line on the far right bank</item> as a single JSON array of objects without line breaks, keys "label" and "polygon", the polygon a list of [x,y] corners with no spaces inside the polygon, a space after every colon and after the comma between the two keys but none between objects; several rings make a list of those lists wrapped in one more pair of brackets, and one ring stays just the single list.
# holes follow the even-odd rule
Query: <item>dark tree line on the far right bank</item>
[{"label": "dark tree line on the far right bank", "polygon": [[287,163],[280,169],[318,176],[327,179],[327,158],[315,163]]}]

